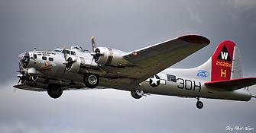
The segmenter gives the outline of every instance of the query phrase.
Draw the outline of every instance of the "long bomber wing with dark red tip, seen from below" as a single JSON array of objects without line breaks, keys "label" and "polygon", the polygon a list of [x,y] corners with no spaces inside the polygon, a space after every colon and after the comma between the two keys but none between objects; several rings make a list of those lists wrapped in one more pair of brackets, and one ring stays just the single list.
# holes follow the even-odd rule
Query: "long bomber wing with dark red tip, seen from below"
[{"label": "long bomber wing with dark red tip, seen from below", "polygon": [[135,78],[139,82],[144,81],[180,62],[209,43],[210,41],[206,37],[187,35],[128,52],[124,58],[133,63],[135,67],[125,68],[122,74],[128,75],[129,78]]}]

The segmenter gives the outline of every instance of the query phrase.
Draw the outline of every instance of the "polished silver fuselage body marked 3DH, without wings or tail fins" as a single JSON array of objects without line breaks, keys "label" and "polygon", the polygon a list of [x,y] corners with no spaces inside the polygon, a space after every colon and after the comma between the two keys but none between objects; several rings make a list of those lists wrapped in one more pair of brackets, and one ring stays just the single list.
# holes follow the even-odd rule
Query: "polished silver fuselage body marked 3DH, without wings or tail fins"
[{"label": "polished silver fuselage body marked 3DH, without wings or tail fins", "polygon": [[[41,54],[40,54],[41,53]],[[143,90],[144,93],[169,95],[177,97],[205,97],[224,100],[251,100],[251,93],[248,88],[239,90],[222,90],[208,87],[204,83],[209,81],[207,77],[198,77],[197,69],[175,69],[167,68],[156,74],[160,84],[153,87],[149,79],[136,84],[136,79],[115,78],[115,74],[108,73],[100,65],[92,60],[92,55],[87,52],[76,52],[76,55],[67,57],[79,58],[79,71],[76,73],[65,69],[65,57],[63,53],[33,51],[29,52],[31,58],[37,55],[36,59],[31,59],[28,64],[28,71],[39,76],[36,87],[31,90],[46,90],[47,84],[62,84],[65,90],[89,89],[83,84],[83,77],[86,72],[100,75],[99,87],[114,88],[118,90]],[[43,56],[47,59],[43,59]],[[53,61],[50,61],[52,58]],[[115,68],[113,68],[115,69]],[[168,78],[168,76],[173,78]],[[31,84],[31,83],[27,83]]]}]

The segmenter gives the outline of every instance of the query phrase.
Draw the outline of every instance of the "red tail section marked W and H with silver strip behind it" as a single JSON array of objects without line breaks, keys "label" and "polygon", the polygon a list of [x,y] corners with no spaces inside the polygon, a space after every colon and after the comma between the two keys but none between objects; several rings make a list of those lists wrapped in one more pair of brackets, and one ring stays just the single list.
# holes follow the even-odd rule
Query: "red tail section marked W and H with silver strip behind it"
[{"label": "red tail section marked W and H with silver strip behind it", "polygon": [[235,43],[225,40],[212,55],[211,81],[235,78],[242,78],[240,52]]}]

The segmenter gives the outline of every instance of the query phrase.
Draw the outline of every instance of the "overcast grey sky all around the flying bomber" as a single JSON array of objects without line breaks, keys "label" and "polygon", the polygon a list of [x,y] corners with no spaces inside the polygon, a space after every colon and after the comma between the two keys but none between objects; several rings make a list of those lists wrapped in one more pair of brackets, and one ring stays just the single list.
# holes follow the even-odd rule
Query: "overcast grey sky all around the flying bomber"
[{"label": "overcast grey sky all around the flying bomber", "polygon": [[[172,68],[203,64],[222,40],[241,51],[245,76],[256,76],[256,1],[254,0],[0,0],[0,132],[230,132],[227,126],[256,131],[256,100],[238,102],[151,95],[134,100],[122,90],[47,93],[16,90],[18,55],[81,45],[131,51],[184,34],[211,40]],[[256,87],[251,87],[256,95]],[[233,131],[235,132],[235,131]],[[241,131],[238,131],[241,132]],[[253,131],[248,131],[253,132]]]}]

